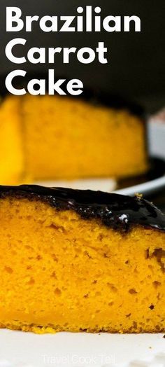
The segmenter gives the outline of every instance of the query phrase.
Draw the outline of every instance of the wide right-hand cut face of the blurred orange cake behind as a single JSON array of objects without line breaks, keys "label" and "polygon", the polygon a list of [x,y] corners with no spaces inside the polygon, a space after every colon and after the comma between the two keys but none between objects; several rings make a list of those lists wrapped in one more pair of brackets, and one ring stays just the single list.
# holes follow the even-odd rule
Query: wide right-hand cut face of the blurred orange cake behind
[{"label": "wide right-hand cut face of the blurred orange cake behind", "polygon": [[23,118],[27,170],[35,179],[131,176],[147,169],[145,123],[127,110],[27,96]]}]

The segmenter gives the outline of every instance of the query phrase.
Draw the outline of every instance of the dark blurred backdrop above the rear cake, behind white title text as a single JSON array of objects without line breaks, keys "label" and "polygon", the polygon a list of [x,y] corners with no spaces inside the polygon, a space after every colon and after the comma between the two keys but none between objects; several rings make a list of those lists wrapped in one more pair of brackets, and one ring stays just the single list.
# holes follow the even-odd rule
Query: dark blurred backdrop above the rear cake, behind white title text
[{"label": "dark blurred backdrop above the rear cake, behind white title text", "polygon": [[[73,57],[71,64],[62,64],[57,57],[57,76],[82,79],[87,87],[101,88],[113,94],[131,97],[148,111],[156,111],[165,104],[165,3],[164,0],[0,0],[1,73],[15,69],[45,71],[48,65],[19,64],[6,60],[4,49],[10,39],[27,39],[27,49],[38,47],[96,46],[104,41],[108,47],[108,64],[80,64]],[[45,33],[34,25],[32,33],[6,33],[6,6],[18,6],[23,15],[76,15],[78,6],[100,6],[102,16],[138,15],[141,33]],[[20,49],[19,49],[20,47]],[[19,55],[22,46],[17,47]],[[22,51],[21,54],[22,55]],[[50,66],[53,67],[52,65]]]}]

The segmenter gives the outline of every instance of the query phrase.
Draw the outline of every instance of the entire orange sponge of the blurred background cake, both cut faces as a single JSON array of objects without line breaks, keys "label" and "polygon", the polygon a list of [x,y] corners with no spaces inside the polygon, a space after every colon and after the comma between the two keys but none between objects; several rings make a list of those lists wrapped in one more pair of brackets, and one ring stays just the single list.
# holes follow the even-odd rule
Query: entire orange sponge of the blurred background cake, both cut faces
[{"label": "entire orange sponge of the blurred background cake, both cut faces", "polygon": [[7,96],[0,183],[124,177],[148,169],[145,123],[127,108],[73,97]]}]

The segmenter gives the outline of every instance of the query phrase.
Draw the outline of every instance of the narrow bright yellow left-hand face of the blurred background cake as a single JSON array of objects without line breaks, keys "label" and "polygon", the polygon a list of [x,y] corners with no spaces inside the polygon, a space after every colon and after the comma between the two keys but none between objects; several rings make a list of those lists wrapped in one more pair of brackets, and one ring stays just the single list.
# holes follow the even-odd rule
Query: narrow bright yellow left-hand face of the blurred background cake
[{"label": "narrow bright yellow left-hand face of the blurred background cake", "polygon": [[24,151],[20,98],[8,97],[0,104],[0,184],[20,183]]}]

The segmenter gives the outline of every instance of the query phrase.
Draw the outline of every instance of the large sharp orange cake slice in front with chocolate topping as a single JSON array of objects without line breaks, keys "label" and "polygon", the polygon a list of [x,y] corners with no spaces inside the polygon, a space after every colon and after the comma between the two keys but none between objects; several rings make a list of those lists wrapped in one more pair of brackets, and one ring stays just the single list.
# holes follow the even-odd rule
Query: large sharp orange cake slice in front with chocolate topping
[{"label": "large sharp orange cake slice in front with chocolate topping", "polygon": [[165,216],[136,196],[0,186],[0,326],[165,331]]}]

